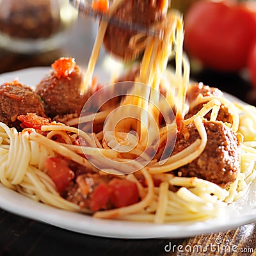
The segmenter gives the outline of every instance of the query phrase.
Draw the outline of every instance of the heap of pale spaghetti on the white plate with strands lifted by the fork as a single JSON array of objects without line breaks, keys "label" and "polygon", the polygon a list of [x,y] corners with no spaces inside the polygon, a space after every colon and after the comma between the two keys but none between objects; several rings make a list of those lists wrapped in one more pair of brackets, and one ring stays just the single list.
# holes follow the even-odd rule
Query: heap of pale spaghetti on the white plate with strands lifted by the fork
[{"label": "heap of pale spaghetti on the white plate with strands lifted by the fork", "polygon": [[[114,1],[107,12],[114,13],[121,3],[122,1]],[[107,26],[106,22],[100,24],[81,93],[90,91],[93,69]],[[123,122],[118,125],[118,129],[105,134],[102,129],[97,132],[84,132],[69,126],[76,125],[78,122],[86,125],[93,120],[97,125],[103,125],[112,111],[112,109],[104,109],[95,115],[88,114],[81,116],[80,119],[68,120],[68,125],[56,122],[41,125],[39,131],[30,128],[17,132],[15,128],[0,123],[0,180],[4,186],[39,202],[68,211],[93,214],[95,218],[152,221],[157,224],[214,218],[221,214],[227,204],[245,195],[256,178],[256,122],[252,114],[252,112],[256,113],[255,108],[234,104],[225,97],[214,95],[207,97],[198,95],[193,102],[187,102],[186,93],[190,86],[189,63],[182,52],[184,34],[182,17],[177,12],[170,12],[159,26],[164,31],[163,40],[151,36],[144,38],[145,53],[141,61],[140,73],[134,79],[135,84],[143,83],[147,86],[143,90],[140,90],[140,86],[134,86],[132,88],[134,91],[116,106],[118,108],[135,105],[139,109],[144,109],[139,111],[140,122],[129,118],[129,122]],[[136,44],[138,38],[140,36],[131,39],[131,47]],[[166,71],[170,56],[175,56],[176,60],[174,73]],[[170,124],[161,122],[162,102],[159,94],[156,93],[160,90],[166,91],[165,99],[175,109],[177,125],[175,122]],[[186,118],[189,107],[192,108],[198,104],[203,104],[202,108]],[[230,110],[232,124],[216,121],[221,104]],[[211,113],[208,121],[204,117],[207,113]],[[123,114],[120,111],[118,114],[120,116],[117,117],[122,120]],[[149,115],[153,118],[150,119]],[[153,121],[158,127],[158,136],[152,132]],[[228,134],[231,134],[228,140],[236,144],[234,148],[237,152],[232,151],[232,154],[235,154],[232,160],[239,162],[239,168],[234,171],[233,180],[223,183],[225,186],[221,182],[218,184],[202,177],[186,177],[186,175],[184,177],[182,173],[182,168],[186,168],[191,163],[196,162],[202,165],[200,157],[207,152],[207,147],[209,148],[211,144],[209,144],[211,134],[207,125],[214,129],[221,127],[228,131]],[[135,135],[129,133],[131,128],[136,131]],[[182,140],[187,141],[192,134],[196,134],[196,137],[181,149],[177,148],[176,143],[173,151],[175,154],[161,158],[163,145],[168,141],[170,134],[174,138],[177,134],[182,134]],[[240,134],[243,134],[244,141]],[[156,141],[158,142],[156,148],[147,147],[147,140],[145,140],[147,136],[154,141],[153,146],[157,144]],[[79,144],[76,143],[78,140]],[[155,153],[153,156],[151,156],[152,152]],[[74,184],[73,180],[69,194],[64,193],[64,195],[60,192],[58,184],[53,181],[54,179],[51,179],[49,170],[45,168],[45,161],[51,157],[68,159],[72,164],[80,166],[79,168],[86,169],[90,175],[83,176],[83,179],[79,179],[77,175],[77,184]],[[101,170],[93,166],[90,157],[100,163]],[[236,157],[239,157],[238,161]],[[123,175],[124,168],[138,171]],[[109,176],[102,170],[112,174]],[[230,172],[230,170],[227,171]],[[118,178],[113,174],[119,174]],[[92,183],[93,177],[97,177],[101,183],[89,184]],[[106,188],[106,184],[111,186],[111,192],[109,187]],[[133,197],[135,199],[132,199],[133,201],[129,204],[116,202],[115,189],[113,189],[117,188],[116,184],[125,184],[133,188],[132,191],[135,194],[138,193],[138,198],[136,194]],[[70,184],[68,183],[67,186]],[[93,193],[95,191],[92,192],[90,189],[99,191],[99,188],[106,189],[104,195],[112,193],[108,197],[109,201],[102,204],[104,206],[102,208],[93,205],[95,203],[93,200],[86,205],[86,200],[95,196]],[[81,194],[77,194],[78,196],[72,194],[72,189],[77,189],[76,193]],[[129,191],[125,193],[129,194]],[[81,200],[79,204],[70,200],[81,195],[85,199],[83,198],[84,201]],[[111,204],[110,207],[108,207],[109,204]]]}]

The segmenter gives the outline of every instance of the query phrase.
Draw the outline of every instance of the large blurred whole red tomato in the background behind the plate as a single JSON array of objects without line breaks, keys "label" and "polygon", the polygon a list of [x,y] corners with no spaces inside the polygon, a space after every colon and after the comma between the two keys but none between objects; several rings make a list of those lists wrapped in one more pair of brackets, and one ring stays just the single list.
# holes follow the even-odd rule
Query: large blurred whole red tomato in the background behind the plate
[{"label": "large blurred whole red tomato in the background behind the plate", "polygon": [[236,1],[198,1],[184,18],[184,49],[189,56],[220,71],[246,67],[256,37],[256,12]]}]

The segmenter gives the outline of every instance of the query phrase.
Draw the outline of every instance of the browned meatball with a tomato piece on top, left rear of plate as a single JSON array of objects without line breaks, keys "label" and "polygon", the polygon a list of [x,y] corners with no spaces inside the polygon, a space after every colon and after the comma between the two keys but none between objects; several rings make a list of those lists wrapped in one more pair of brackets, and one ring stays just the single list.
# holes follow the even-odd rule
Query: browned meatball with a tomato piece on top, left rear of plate
[{"label": "browned meatball with a tomato piece on top, left rear of plate", "polygon": [[36,86],[35,92],[45,104],[47,116],[80,113],[87,96],[81,95],[83,74],[72,58],[60,58],[52,64],[53,70]]}]

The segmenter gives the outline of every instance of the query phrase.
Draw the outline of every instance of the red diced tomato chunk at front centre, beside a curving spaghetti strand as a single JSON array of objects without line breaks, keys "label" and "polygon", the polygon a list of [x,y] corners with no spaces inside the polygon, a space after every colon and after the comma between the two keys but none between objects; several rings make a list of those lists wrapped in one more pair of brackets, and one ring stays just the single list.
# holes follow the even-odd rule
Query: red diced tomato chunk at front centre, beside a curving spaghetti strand
[{"label": "red diced tomato chunk at front centre, beside a curving spaghetti strand", "polygon": [[139,191],[134,182],[115,178],[108,184],[111,188],[110,202],[115,207],[124,207],[139,201]]}]

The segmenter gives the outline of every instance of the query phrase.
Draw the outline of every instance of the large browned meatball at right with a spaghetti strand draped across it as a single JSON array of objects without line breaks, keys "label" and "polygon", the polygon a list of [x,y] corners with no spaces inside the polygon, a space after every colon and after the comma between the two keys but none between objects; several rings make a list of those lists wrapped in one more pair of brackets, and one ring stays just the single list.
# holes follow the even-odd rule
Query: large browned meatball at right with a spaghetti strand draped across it
[{"label": "large browned meatball at right with a spaghetti strand draped across it", "polygon": [[[236,180],[240,168],[241,143],[236,132],[228,128],[223,122],[204,122],[207,132],[207,145],[204,152],[194,161],[180,167],[177,173],[182,177],[198,177],[209,180],[221,187],[228,186]],[[184,127],[189,131],[189,138],[185,138],[181,130],[177,134],[177,141],[173,154],[177,154],[200,138],[194,124]]]}]

